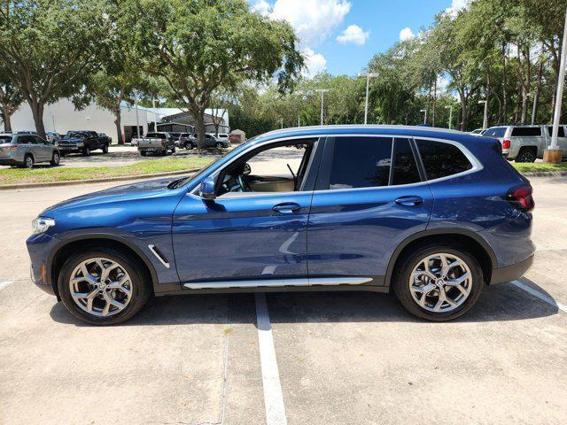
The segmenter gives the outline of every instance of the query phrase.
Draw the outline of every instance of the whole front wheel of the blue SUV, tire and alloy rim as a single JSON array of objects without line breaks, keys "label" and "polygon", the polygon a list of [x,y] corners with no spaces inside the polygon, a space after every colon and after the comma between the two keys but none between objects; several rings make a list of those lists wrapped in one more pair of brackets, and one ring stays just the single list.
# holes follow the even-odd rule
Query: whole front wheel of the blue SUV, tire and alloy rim
[{"label": "whole front wheel of the blue SUV, tire and alloy rim", "polygon": [[58,290],[77,319],[94,325],[128,321],[150,298],[150,284],[136,259],[119,251],[94,248],[67,259]]}]

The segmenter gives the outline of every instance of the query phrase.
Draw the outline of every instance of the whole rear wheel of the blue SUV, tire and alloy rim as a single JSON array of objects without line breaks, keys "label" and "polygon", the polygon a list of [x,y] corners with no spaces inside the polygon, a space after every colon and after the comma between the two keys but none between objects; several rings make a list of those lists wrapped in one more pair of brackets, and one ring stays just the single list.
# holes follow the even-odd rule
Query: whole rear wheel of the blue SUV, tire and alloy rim
[{"label": "whole rear wheel of the blue SUV, tire and alloy rim", "polygon": [[430,321],[450,321],[477,302],[484,282],[477,259],[462,247],[427,245],[405,259],[393,290],[409,313]]}]

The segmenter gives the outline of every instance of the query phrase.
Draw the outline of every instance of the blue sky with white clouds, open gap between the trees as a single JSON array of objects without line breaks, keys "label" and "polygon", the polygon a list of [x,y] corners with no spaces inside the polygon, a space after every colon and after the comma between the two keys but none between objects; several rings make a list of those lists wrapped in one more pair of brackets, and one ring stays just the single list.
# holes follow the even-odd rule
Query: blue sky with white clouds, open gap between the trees
[{"label": "blue sky with white clouds, open gap between the trees", "polygon": [[[355,75],[377,52],[416,35],[439,12],[468,0],[249,0],[255,12],[285,19],[301,39],[308,74]],[[406,28],[406,29],[404,29]],[[409,28],[409,29],[408,29]]]}]

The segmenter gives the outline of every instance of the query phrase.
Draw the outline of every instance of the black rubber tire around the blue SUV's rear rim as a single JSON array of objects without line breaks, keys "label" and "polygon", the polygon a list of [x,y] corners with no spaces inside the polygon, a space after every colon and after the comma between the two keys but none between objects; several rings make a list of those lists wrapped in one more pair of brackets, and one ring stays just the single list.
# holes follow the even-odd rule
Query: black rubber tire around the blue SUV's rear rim
[{"label": "black rubber tire around the blue SUV's rear rim", "polygon": [[[470,269],[471,280],[468,298],[466,298],[461,305],[452,311],[439,313],[431,312],[426,308],[423,308],[421,305],[418,305],[409,290],[410,274],[414,268],[418,266],[422,259],[435,253],[447,253],[454,255],[459,259],[462,259],[462,261],[464,261],[466,266]],[[409,313],[428,321],[451,321],[461,317],[464,313],[467,313],[473,305],[475,305],[482,293],[484,285],[482,268],[478,264],[478,260],[470,255],[469,251],[467,251],[465,247],[448,243],[430,243],[417,247],[405,258],[401,259],[396,270],[394,270],[394,274],[392,275],[393,291],[398,299],[400,299],[401,304]]]}]

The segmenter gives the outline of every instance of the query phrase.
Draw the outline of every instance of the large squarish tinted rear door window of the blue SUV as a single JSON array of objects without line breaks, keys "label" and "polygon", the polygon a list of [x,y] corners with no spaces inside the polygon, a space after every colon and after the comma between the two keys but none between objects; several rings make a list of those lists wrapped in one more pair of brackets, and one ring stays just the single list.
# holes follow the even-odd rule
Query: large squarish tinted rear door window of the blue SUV
[{"label": "large squarish tinted rear door window of the blue SUV", "polygon": [[329,189],[387,186],[391,156],[390,137],[337,137]]}]

